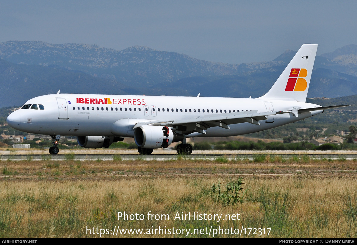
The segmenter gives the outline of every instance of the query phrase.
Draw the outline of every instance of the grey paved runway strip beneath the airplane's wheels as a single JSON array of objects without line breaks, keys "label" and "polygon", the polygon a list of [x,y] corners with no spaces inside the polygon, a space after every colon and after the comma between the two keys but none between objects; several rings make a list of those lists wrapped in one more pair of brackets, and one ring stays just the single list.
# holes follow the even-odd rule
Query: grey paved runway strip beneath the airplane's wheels
[{"label": "grey paved runway strip beneath the airplane's wheels", "polygon": [[283,159],[308,156],[310,159],[357,159],[357,151],[194,151],[191,155],[178,155],[175,150],[154,150],[151,155],[139,155],[136,150],[60,150],[50,155],[46,150],[2,150],[5,160],[227,160],[250,159],[259,155],[278,155]]}]

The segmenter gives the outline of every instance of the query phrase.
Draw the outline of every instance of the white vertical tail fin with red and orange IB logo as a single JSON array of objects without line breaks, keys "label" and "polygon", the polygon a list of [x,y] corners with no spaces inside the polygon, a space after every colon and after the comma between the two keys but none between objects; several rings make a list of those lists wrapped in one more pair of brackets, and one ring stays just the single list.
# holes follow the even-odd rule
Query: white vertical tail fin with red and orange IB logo
[{"label": "white vertical tail fin with red and orange IB logo", "polygon": [[258,99],[305,102],[315,62],[317,44],[304,44],[271,89]]}]

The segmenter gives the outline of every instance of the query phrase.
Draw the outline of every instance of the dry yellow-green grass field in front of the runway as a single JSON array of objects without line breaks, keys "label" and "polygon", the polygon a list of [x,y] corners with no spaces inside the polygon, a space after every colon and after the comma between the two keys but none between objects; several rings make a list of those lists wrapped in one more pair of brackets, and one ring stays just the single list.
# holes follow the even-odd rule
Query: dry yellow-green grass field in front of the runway
[{"label": "dry yellow-green grass field in front of the runway", "polygon": [[[1,238],[212,237],[219,229],[221,234],[214,237],[357,235],[355,160],[269,155],[232,161],[181,156],[171,161],[122,161],[120,155],[113,161],[70,158],[0,162]],[[237,185],[240,178],[243,184]],[[144,219],[118,220],[118,212],[124,211]],[[154,214],[151,219],[149,212]],[[188,212],[207,219],[177,218]],[[208,214],[222,216],[217,222],[208,220]],[[226,219],[236,219],[237,214],[240,220]],[[116,234],[118,226],[144,230],[141,235]],[[151,235],[159,226],[166,234],[157,230]],[[172,228],[180,234],[172,234]],[[111,234],[100,235],[100,229]],[[150,235],[144,234],[146,229]],[[237,229],[242,233],[234,234]]]}]

